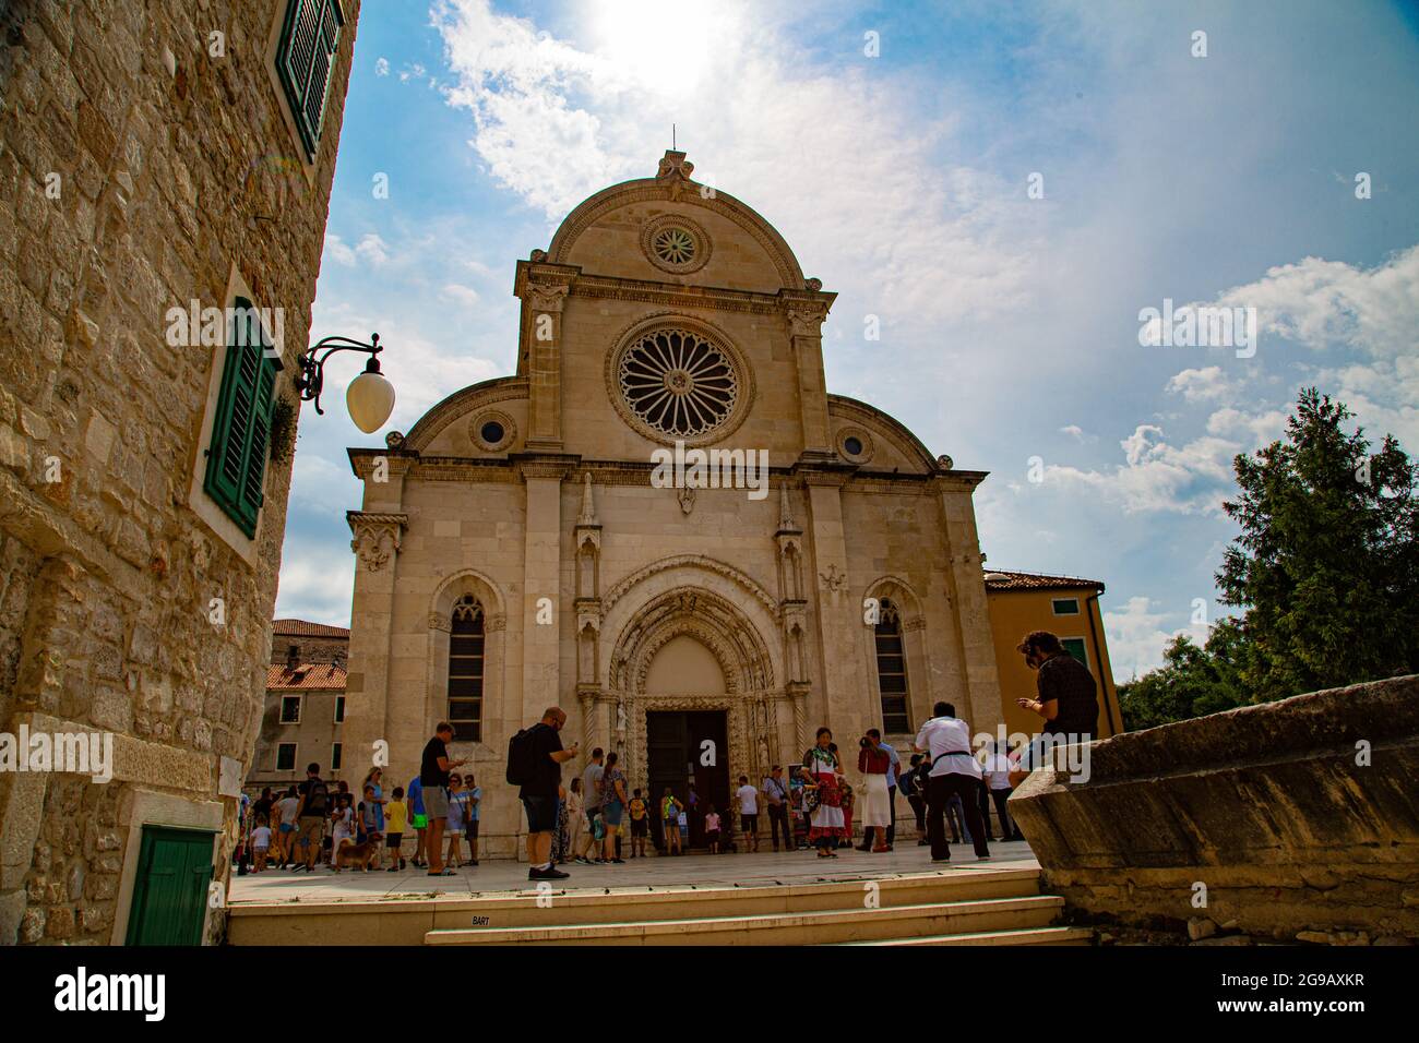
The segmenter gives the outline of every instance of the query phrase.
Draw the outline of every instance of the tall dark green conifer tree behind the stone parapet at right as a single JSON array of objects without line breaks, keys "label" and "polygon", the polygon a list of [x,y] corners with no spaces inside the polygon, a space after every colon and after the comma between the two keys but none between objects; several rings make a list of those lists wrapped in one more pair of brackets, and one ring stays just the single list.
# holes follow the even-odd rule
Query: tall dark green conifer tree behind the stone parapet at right
[{"label": "tall dark green conifer tree behind the stone parapet at right", "polygon": [[1243,610],[1223,644],[1254,701],[1419,671],[1415,467],[1392,436],[1372,454],[1351,416],[1307,387],[1284,440],[1236,457],[1223,507],[1242,532],[1216,579]]}]

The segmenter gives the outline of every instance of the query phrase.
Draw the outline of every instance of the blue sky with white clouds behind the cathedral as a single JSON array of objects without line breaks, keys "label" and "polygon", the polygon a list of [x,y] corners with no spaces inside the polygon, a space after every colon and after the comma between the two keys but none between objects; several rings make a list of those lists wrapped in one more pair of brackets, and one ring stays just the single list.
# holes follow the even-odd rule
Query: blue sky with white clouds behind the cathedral
[{"label": "blue sky with white clouds behind the cathedral", "polygon": [[[1220,612],[1232,457],[1300,386],[1419,451],[1416,111],[1412,3],[365,0],[312,341],[379,331],[406,431],[512,372],[515,261],[674,122],[837,291],[829,389],[992,473],[990,566],[1103,579],[1127,678]],[[1256,355],[1142,346],[1165,298],[1256,308]],[[280,616],[349,620],[358,368],[302,417]]]}]

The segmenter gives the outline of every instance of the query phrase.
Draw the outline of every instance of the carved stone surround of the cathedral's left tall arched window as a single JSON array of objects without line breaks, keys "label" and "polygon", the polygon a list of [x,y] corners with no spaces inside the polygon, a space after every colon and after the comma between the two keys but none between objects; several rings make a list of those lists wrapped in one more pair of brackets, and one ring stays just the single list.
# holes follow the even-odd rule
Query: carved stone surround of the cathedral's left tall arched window
[{"label": "carved stone surround of the cathedral's left tall arched window", "polygon": [[490,722],[502,717],[507,691],[502,664],[507,661],[507,603],[498,585],[477,569],[460,569],[447,576],[429,600],[429,664],[424,677],[424,731],[431,734],[437,721],[447,717],[448,705],[448,639],[453,613],[465,610],[461,603],[471,597],[482,607],[482,739],[478,744],[454,742],[473,751],[474,746],[498,748],[504,736],[491,734]]}]

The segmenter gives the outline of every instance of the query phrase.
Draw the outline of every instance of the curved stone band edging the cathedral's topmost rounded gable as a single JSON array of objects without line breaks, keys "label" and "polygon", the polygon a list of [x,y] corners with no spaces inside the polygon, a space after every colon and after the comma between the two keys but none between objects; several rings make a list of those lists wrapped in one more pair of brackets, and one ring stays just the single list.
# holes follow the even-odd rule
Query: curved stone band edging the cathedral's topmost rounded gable
[{"label": "curved stone band edging the cathedral's topmost rounded gable", "polygon": [[[582,233],[612,210],[630,203],[668,200],[700,206],[735,221],[753,236],[772,258],[783,287],[786,289],[803,289],[806,287],[803,268],[799,267],[797,258],[778,233],[778,228],[769,224],[753,207],[741,203],[729,193],[690,180],[690,173],[694,169],[694,163],[685,159],[684,152],[670,149],[666,152],[664,159],[660,160],[660,170],[654,177],[637,177],[622,182],[620,184],[602,189],[593,196],[587,196],[558,226],[556,234],[552,236],[552,245],[548,248],[546,260],[552,264],[566,264],[566,258],[570,255],[572,247],[580,238]],[[822,284],[807,288],[820,289]]]}]

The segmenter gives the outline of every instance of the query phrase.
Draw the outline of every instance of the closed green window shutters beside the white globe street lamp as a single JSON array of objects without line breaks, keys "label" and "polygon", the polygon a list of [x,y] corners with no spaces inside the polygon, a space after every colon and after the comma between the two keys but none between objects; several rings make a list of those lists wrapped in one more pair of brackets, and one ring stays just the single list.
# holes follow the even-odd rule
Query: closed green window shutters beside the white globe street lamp
[{"label": "closed green window shutters beside the white globe street lamp", "polygon": [[261,514],[277,366],[274,359],[265,358],[265,338],[255,312],[250,311],[251,302],[238,297],[234,308],[203,488],[248,538],[254,538]]}]

